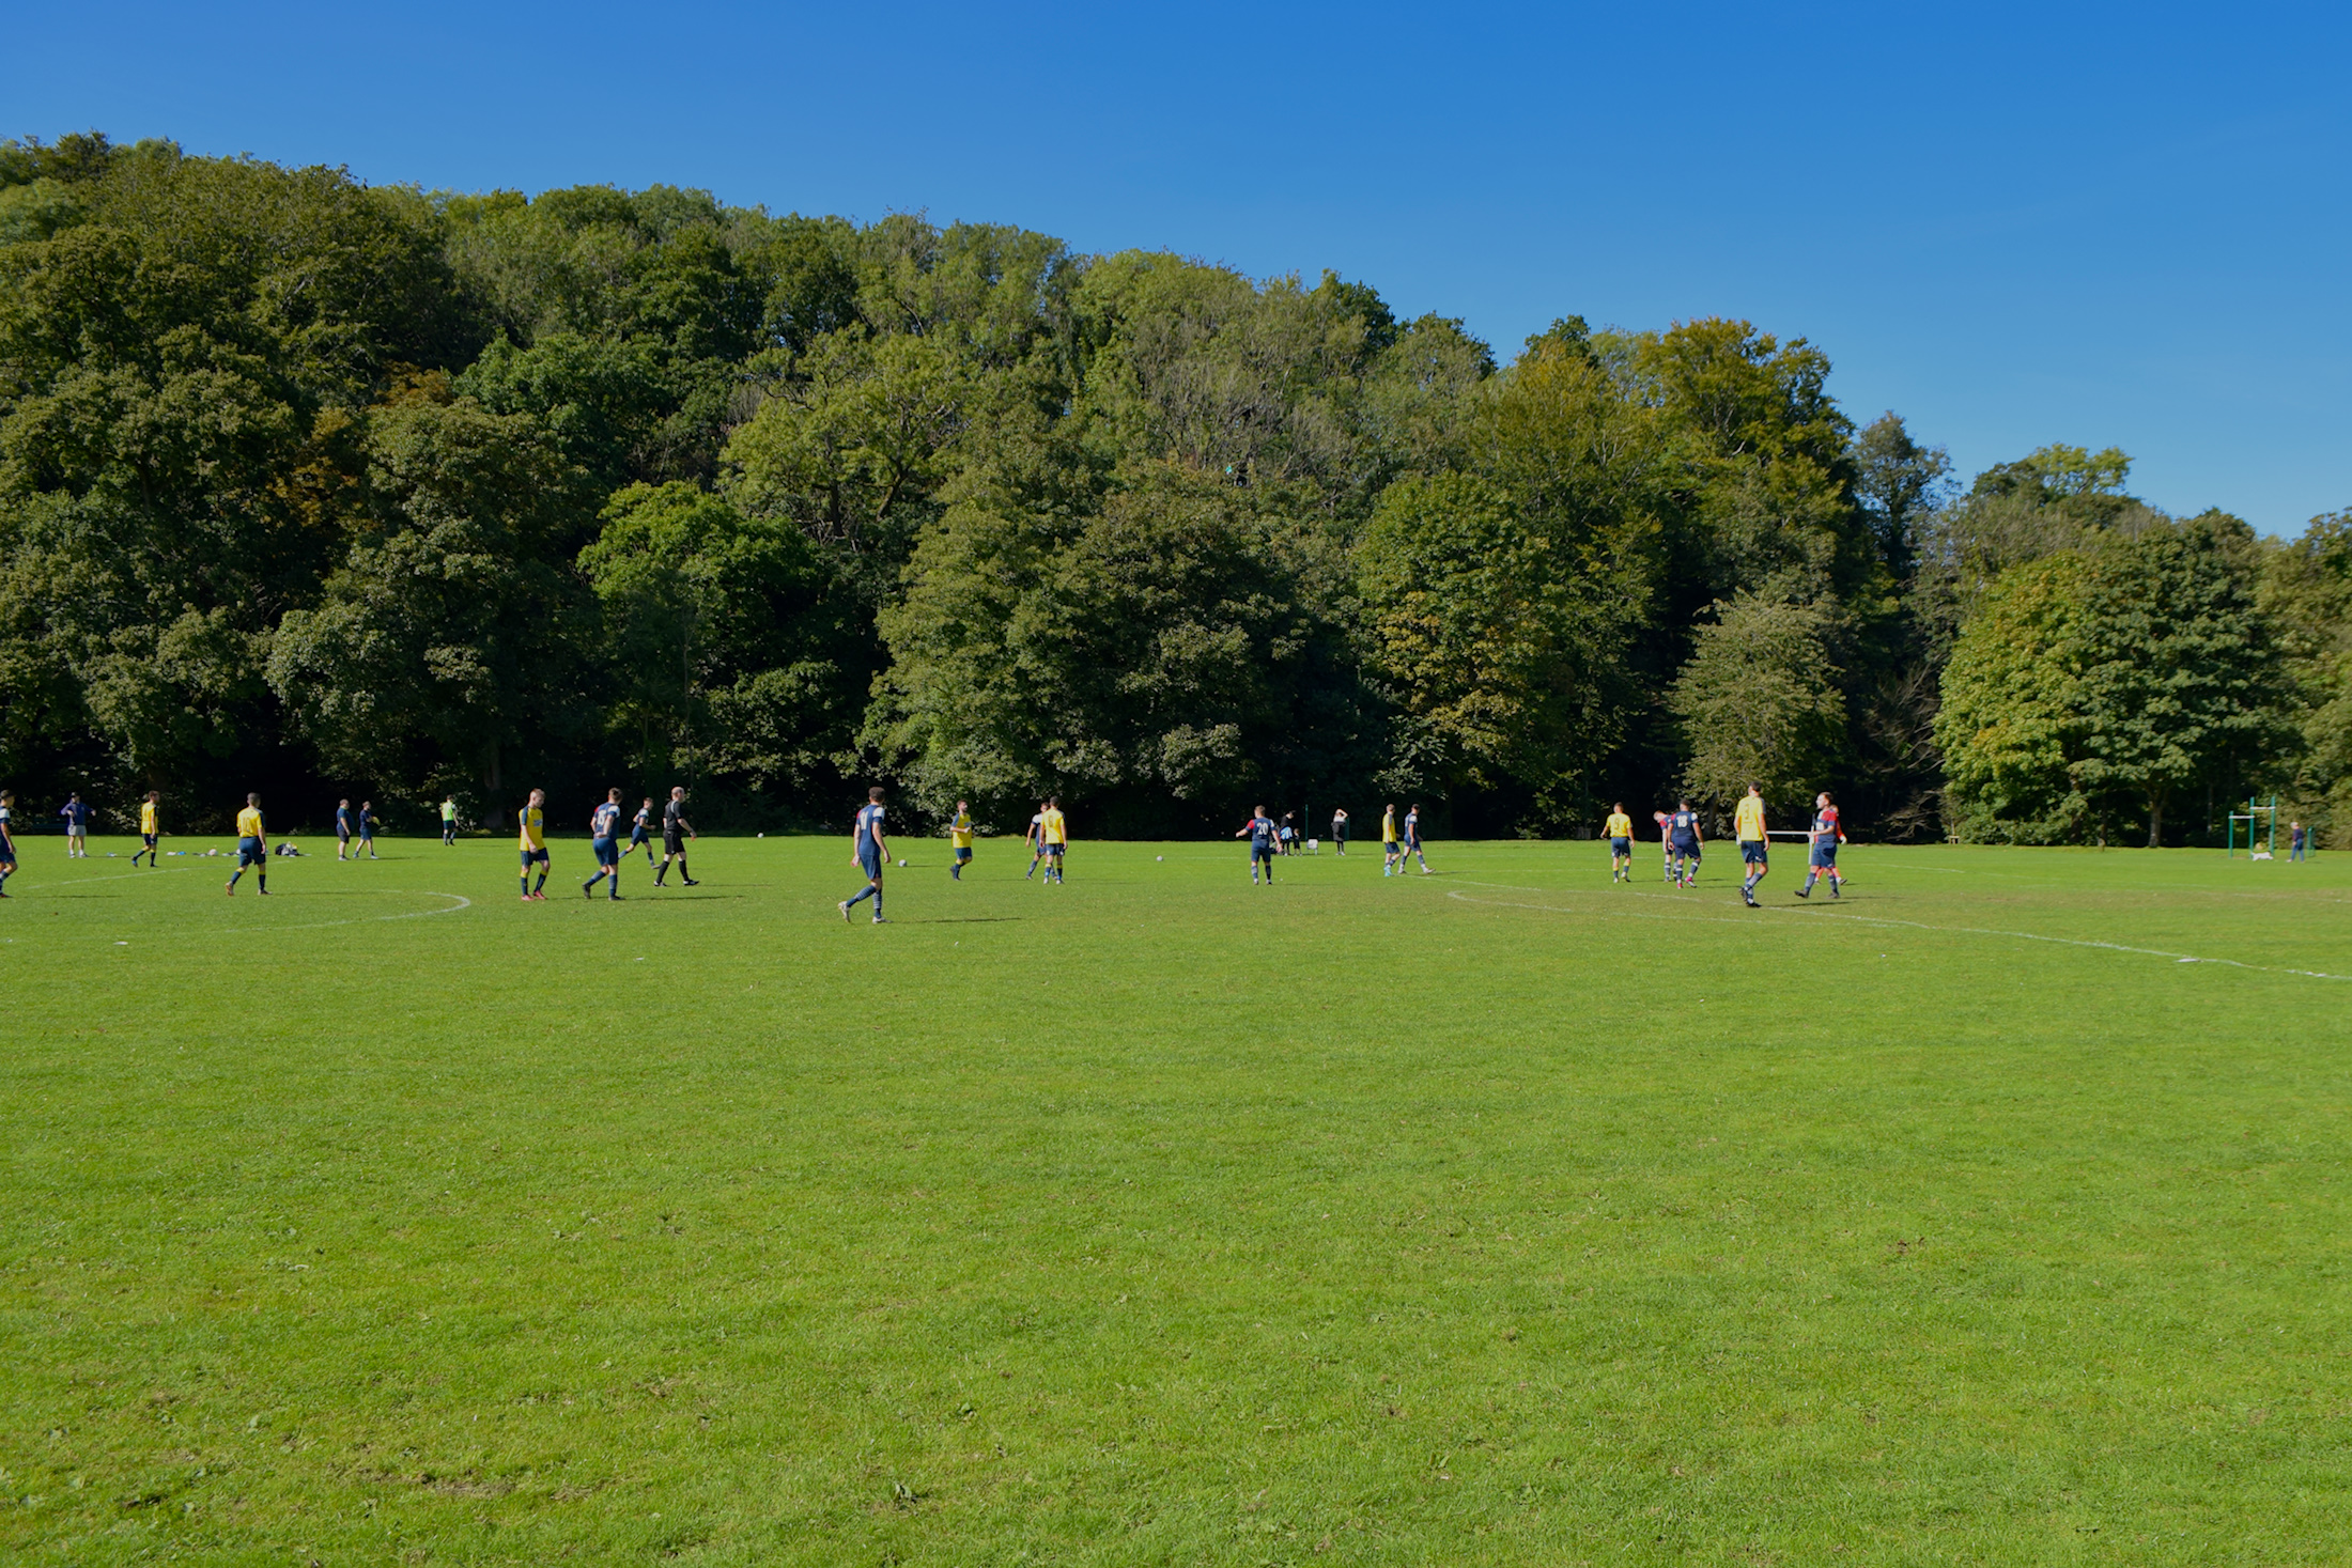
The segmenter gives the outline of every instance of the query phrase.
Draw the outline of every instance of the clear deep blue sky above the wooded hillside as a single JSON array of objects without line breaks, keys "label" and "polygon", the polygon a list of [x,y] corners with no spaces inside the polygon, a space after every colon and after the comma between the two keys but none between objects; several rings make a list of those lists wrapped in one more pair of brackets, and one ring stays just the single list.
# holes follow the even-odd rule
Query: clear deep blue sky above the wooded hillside
[{"label": "clear deep blue sky above the wooded hillside", "polygon": [[1336,268],[1510,357],[1740,315],[1962,473],[2352,505],[2343,7],[26,7],[0,134]]}]

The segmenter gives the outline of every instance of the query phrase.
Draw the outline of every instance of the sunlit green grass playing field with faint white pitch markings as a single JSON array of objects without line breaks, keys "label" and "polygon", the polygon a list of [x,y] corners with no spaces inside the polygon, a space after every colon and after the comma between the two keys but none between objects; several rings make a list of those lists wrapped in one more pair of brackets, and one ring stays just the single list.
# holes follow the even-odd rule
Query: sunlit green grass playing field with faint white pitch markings
[{"label": "sunlit green grass playing field with faint white pitch markings", "polygon": [[2352,1561],[2352,856],[96,849],[7,1561]]}]

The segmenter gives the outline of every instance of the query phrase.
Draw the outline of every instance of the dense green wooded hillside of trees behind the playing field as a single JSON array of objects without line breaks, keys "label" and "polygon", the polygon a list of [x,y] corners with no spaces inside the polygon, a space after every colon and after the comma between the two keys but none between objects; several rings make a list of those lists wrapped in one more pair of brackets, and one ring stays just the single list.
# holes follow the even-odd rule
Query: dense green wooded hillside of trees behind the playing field
[{"label": "dense green wooded hillside of trees behind the playing field", "polygon": [[1329,273],[983,223],[0,143],[0,778],[2352,823],[2352,522],[2164,517],[2070,447],[1962,494],[1828,371],[1578,317],[1505,367]]}]

